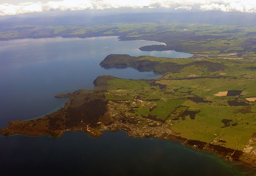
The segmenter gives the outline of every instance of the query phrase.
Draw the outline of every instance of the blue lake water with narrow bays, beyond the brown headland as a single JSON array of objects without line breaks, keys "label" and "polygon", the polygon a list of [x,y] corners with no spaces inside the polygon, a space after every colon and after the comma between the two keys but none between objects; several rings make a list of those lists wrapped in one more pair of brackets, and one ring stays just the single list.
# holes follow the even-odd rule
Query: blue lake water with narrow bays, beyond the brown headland
[{"label": "blue lake water with narrow bays, beyond the brown headland", "polygon": [[139,72],[133,68],[105,70],[99,63],[109,54],[148,55],[161,57],[191,54],[175,51],[142,52],[154,41],[119,41],[117,36],[92,38],[42,38],[0,41],[0,127],[6,121],[31,119],[52,112],[65,100],[57,94],[78,89],[93,89],[100,75],[119,78],[153,79],[160,75]]}]

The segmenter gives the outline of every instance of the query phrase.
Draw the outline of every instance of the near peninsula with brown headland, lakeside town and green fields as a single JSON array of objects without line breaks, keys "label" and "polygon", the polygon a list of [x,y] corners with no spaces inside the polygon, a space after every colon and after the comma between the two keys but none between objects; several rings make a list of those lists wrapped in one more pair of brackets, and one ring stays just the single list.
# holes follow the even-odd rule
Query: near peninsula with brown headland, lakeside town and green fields
[{"label": "near peninsula with brown headland, lakeside town and green fields", "polygon": [[128,136],[175,140],[256,167],[255,59],[109,55],[100,65],[163,75],[153,80],[99,76],[94,90],[56,95],[69,98],[64,107],[44,117],[9,121],[0,134],[59,137],[82,130],[99,137],[104,130],[125,130]]}]

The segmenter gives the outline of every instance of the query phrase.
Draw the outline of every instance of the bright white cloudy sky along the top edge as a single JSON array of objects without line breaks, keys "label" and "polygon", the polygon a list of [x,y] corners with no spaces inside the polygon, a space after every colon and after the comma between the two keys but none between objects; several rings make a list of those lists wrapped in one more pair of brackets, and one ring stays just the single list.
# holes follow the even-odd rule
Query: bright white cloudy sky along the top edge
[{"label": "bright white cloudy sky along the top edge", "polygon": [[170,8],[256,13],[256,0],[0,0],[0,15],[54,10],[103,10],[117,8]]}]

